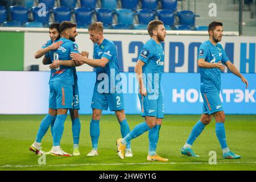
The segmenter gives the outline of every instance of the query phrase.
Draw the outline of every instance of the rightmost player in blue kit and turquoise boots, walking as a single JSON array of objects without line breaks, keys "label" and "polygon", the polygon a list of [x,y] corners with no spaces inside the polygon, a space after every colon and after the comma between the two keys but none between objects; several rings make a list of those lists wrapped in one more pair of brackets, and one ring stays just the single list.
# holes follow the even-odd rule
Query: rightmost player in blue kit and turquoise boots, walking
[{"label": "rightmost player in blue kit and turquoise boots, walking", "polygon": [[183,148],[181,148],[181,154],[183,155],[193,157],[199,156],[193,152],[191,146],[204,130],[204,127],[210,123],[212,116],[214,116],[216,119],[216,135],[222,148],[223,158],[241,158],[240,155],[236,155],[234,152],[230,151],[226,143],[224,127],[225,114],[220,100],[221,71],[225,70],[226,65],[230,72],[241,78],[241,81],[246,84],[246,88],[248,86],[248,82],[230,62],[221,44],[218,43],[222,39],[222,32],[223,28],[221,22],[214,21],[210,23],[208,27],[209,40],[201,44],[199,48],[197,62],[200,67],[201,75],[200,92],[204,100],[203,114],[201,115],[200,120],[193,127],[187,142],[184,144]]}]

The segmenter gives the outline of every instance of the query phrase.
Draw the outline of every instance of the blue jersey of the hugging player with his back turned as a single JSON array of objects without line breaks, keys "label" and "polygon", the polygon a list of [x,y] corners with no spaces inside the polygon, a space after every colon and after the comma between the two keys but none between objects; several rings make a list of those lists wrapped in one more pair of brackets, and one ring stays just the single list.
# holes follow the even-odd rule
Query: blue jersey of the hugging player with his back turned
[{"label": "blue jersey of the hugging player with his back turned", "polygon": [[[69,56],[71,52],[79,53],[77,44],[75,42],[65,38],[60,38],[56,42],[59,41],[62,41],[63,44],[61,44],[61,46],[56,50],[49,52],[51,61],[71,60],[71,57]],[[74,85],[77,81],[76,68],[60,65],[60,67],[57,69],[51,69],[51,77],[49,82],[52,81],[60,81],[66,84]]]}]

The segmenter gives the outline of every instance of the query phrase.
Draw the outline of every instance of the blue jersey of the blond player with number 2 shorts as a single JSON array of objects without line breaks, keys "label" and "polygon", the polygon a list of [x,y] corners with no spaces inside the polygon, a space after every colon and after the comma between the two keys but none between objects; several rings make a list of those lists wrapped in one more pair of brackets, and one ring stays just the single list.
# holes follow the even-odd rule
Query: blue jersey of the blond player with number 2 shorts
[{"label": "blue jersey of the blond player with number 2 shorts", "polygon": [[109,62],[104,68],[96,67],[96,84],[104,81],[104,78],[98,80],[98,78],[100,78],[98,76],[101,73],[105,73],[108,75],[109,89],[107,90],[102,86],[102,90],[99,91],[104,93],[121,92],[121,90],[119,90],[122,89],[122,84],[118,67],[117,49],[115,48],[115,44],[108,39],[104,39],[100,45],[94,44],[93,59],[101,59],[102,57],[108,59]]}]

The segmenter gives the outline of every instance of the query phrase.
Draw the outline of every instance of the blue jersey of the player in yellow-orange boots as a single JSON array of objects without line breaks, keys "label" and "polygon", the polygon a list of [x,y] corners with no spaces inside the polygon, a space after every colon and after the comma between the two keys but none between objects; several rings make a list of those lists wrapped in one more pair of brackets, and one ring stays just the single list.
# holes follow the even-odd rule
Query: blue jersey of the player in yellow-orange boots
[{"label": "blue jersey of the player in yellow-orange boots", "polygon": [[164,50],[162,44],[156,43],[154,39],[148,40],[144,44],[138,59],[145,63],[142,67],[142,72],[147,93],[154,93],[156,91],[154,89],[158,89],[160,93],[160,82],[164,69]]}]

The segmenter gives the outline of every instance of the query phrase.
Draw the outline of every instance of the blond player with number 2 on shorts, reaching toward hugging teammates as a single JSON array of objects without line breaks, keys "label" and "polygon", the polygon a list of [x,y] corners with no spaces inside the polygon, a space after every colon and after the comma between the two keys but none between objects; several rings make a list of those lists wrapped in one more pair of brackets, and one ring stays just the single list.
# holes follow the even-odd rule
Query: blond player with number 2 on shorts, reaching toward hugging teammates
[{"label": "blond player with number 2 on shorts, reaching toward hugging teammates", "polygon": [[[78,53],[72,53],[71,57],[73,60],[83,61],[92,67],[96,67],[96,83],[94,85],[91,104],[93,113],[92,120],[90,121],[92,151],[87,156],[97,156],[102,110],[108,110],[109,107],[110,111],[115,111],[121,127],[122,137],[125,137],[130,132],[130,129],[125,116],[122,86],[120,85],[121,76],[117,64],[117,50],[115,49],[115,45],[112,41],[104,38],[101,22],[92,23],[88,30],[90,40],[94,43],[93,59],[82,57]],[[113,77],[112,73],[114,73]],[[107,77],[106,79],[104,77],[104,82],[106,83],[104,86],[101,86],[102,81],[100,77],[102,75]],[[130,143],[127,144],[125,155],[127,157],[133,156]]]}]

